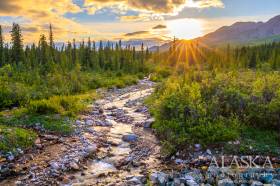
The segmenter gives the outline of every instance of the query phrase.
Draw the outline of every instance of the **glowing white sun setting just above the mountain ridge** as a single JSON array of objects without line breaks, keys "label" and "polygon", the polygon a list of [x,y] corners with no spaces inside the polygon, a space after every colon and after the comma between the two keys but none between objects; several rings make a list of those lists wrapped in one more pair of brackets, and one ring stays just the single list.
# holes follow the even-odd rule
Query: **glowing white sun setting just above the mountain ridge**
[{"label": "glowing white sun setting just above the mountain ridge", "polygon": [[166,23],[169,35],[179,39],[194,39],[203,35],[203,24],[198,19],[176,19]]}]

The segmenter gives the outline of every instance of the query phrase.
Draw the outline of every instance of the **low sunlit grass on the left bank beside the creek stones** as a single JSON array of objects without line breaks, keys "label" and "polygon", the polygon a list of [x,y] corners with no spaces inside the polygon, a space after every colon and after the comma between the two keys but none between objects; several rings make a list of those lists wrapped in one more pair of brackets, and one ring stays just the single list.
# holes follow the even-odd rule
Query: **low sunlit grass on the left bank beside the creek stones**
[{"label": "low sunlit grass on the left bank beside the creek stones", "polygon": [[[23,108],[0,113],[0,151],[26,149],[33,145],[36,132],[24,128],[39,125],[48,133],[70,135],[72,122],[85,110],[89,102],[98,96],[95,92],[75,96],[53,96],[49,99],[31,101]],[[39,132],[39,131],[38,131]]]}]

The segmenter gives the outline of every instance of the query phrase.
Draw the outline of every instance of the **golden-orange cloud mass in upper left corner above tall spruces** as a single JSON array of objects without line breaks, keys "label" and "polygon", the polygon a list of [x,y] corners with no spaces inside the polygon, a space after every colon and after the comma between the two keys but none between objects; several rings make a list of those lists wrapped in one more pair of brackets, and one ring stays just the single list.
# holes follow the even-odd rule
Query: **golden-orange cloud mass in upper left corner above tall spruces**
[{"label": "golden-orange cloud mass in upper left corner above tall spruces", "polygon": [[[20,24],[25,41],[36,42],[40,34],[46,34],[49,23],[56,26],[56,37],[64,40],[73,35],[71,31],[84,32],[79,23],[66,18],[66,13],[79,13],[82,8],[72,0],[1,0],[0,16],[11,17]],[[9,25],[8,25],[9,24]],[[6,22],[10,26],[11,22]],[[64,30],[63,32],[61,30]],[[69,30],[69,32],[67,31]],[[9,34],[7,34],[9,36]],[[9,37],[7,37],[7,40]]]}]

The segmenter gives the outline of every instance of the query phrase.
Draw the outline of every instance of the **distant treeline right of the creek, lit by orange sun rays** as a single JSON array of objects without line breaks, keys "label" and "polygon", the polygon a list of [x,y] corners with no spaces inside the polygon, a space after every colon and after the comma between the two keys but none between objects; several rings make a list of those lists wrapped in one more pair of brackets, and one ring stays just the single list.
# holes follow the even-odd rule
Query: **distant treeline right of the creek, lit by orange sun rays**
[{"label": "distant treeline right of the creek, lit by orange sun rays", "polygon": [[154,61],[160,61],[179,70],[266,68],[280,69],[280,43],[258,46],[210,47],[196,41],[174,39],[166,52],[156,52]]}]

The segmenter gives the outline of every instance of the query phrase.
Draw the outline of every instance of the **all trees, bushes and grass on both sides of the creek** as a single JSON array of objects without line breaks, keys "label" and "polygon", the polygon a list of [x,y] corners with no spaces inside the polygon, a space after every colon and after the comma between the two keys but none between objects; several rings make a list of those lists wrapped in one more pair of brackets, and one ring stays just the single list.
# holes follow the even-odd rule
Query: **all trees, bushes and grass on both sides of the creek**
[{"label": "all trees, bushes and grass on both sides of the creek", "polygon": [[[169,51],[150,53],[144,45],[137,51],[90,38],[58,47],[49,29],[49,41],[41,35],[38,45],[24,48],[19,25],[11,45],[0,27],[0,123],[18,131],[14,138],[35,136],[21,128],[38,125],[71,134],[71,122],[97,97],[92,90],[122,88],[152,73],[159,86],[147,103],[165,153],[193,143],[227,149],[231,142],[236,153],[279,154],[280,43],[210,48],[174,40]],[[3,135],[2,151],[32,144],[13,135]]]}]

